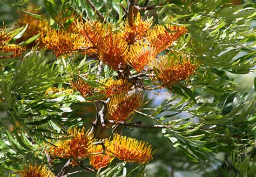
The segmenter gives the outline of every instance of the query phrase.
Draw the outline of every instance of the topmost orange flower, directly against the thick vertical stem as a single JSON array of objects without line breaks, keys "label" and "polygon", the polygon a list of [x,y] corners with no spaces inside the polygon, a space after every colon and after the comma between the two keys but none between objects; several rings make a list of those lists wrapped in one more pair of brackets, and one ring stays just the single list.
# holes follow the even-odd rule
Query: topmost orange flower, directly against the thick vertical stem
[{"label": "topmost orange flower, directly against the thick vertical stem", "polygon": [[124,35],[126,42],[130,45],[134,44],[138,40],[143,39],[143,37],[146,35],[146,32],[150,30],[152,23],[152,19],[146,19],[146,21],[143,21],[140,13],[137,13],[137,17],[135,18],[132,27],[126,21],[124,25]]}]

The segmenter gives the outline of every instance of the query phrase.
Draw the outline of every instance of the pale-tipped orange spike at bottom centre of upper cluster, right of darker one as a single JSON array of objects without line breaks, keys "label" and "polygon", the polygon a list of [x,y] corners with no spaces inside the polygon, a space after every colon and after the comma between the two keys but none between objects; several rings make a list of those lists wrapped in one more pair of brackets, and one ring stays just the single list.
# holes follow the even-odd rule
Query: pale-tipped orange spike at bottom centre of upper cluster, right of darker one
[{"label": "pale-tipped orange spike at bottom centre of upper cluster, right of darker one", "polygon": [[131,45],[126,62],[129,63],[137,72],[141,72],[147,64],[156,58],[154,48],[149,48],[146,44],[136,43]]}]

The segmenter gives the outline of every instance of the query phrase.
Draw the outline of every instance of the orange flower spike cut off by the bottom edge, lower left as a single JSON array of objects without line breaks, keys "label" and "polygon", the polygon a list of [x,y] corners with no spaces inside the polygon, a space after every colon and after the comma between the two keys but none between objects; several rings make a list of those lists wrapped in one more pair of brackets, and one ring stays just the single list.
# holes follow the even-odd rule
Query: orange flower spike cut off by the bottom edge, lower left
[{"label": "orange flower spike cut off by the bottom edge, lower left", "polygon": [[55,177],[55,174],[43,165],[29,165],[29,168],[24,167],[23,171],[19,171],[18,175],[21,177]]}]

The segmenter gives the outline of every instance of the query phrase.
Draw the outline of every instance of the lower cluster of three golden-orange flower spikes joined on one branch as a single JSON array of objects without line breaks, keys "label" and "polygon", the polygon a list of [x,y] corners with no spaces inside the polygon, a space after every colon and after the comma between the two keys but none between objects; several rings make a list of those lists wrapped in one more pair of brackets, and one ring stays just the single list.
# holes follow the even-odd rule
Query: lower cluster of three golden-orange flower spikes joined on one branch
[{"label": "lower cluster of three golden-orange flower spikes joined on one branch", "polygon": [[77,165],[76,160],[83,160],[89,157],[90,165],[95,168],[104,168],[110,164],[114,158],[127,162],[137,162],[145,164],[152,159],[152,146],[144,141],[127,138],[114,134],[113,140],[106,139],[97,144],[93,139],[93,134],[85,133],[84,128],[77,127],[68,131],[70,139],[59,140],[57,147],[52,146],[50,152],[52,156],[58,158],[73,158],[71,164]]}]

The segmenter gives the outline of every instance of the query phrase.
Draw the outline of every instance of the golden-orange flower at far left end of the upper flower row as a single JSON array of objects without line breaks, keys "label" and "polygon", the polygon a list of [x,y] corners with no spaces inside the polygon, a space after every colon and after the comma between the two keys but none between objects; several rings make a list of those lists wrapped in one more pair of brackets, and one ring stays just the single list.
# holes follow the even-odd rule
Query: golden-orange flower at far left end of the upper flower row
[{"label": "golden-orange flower at far left end of the upper flower row", "polygon": [[56,57],[68,55],[87,47],[83,36],[65,31],[49,30],[42,38],[42,43],[47,49],[53,50]]}]

